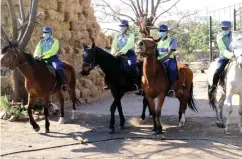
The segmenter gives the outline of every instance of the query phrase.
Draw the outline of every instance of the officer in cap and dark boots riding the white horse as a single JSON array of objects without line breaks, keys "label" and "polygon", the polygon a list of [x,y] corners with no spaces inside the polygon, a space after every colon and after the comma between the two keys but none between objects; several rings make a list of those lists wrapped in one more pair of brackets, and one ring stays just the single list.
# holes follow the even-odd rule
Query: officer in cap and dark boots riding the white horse
[{"label": "officer in cap and dark boots riding the white horse", "polygon": [[221,73],[233,57],[233,53],[229,47],[232,41],[231,22],[222,21],[221,29],[222,32],[217,35],[217,44],[219,48],[218,67],[213,76],[213,85],[209,89],[210,93],[215,92]]}]

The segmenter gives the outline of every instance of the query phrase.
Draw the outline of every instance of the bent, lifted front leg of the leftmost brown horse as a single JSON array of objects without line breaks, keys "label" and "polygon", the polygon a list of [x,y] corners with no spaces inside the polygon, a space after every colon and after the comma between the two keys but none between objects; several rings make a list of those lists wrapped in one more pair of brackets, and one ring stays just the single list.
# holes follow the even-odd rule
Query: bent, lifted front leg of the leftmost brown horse
[{"label": "bent, lifted front leg of the leftmost brown horse", "polygon": [[36,132],[39,131],[40,127],[39,125],[34,121],[33,113],[32,113],[32,108],[33,105],[35,104],[37,98],[31,94],[28,94],[28,115],[29,115],[29,122],[34,128]]}]

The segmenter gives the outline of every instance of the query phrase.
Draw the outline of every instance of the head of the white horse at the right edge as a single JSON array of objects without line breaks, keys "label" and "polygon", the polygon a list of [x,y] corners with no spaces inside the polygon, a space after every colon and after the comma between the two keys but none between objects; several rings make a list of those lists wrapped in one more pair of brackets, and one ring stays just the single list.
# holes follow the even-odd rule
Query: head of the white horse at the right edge
[{"label": "head of the white horse at the right edge", "polygon": [[234,57],[239,68],[242,68],[242,36],[234,38],[232,41]]}]

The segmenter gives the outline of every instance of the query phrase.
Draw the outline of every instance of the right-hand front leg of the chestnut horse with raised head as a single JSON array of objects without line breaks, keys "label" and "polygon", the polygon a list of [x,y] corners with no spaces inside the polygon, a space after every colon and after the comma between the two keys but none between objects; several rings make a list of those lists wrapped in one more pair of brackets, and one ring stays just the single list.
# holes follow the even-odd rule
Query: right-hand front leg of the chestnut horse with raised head
[{"label": "right-hand front leg of the chestnut horse with raised head", "polygon": [[161,94],[158,97],[158,106],[156,111],[156,120],[157,120],[157,131],[156,134],[162,134],[162,125],[160,123],[161,109],[165,101],[165,94]]}]

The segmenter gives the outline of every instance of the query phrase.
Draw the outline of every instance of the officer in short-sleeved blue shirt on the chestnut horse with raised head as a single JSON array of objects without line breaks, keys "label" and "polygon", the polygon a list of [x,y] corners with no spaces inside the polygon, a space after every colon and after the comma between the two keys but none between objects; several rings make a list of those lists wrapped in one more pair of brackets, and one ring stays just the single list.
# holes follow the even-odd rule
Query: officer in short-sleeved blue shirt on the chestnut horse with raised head
[{"label": "officer in short-sleeved blue shirt on the chestnut horse with raised head", "polygon": [[169,78],[169,96],[175,96],[174,84],[177,80],[178,70],[177,61],[174,52],[177,49],[177,41],[168,36],[168,26],[161,24],[159,26],[160,41],[157,43],[158,60],[167,66]]}]

